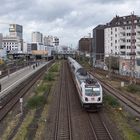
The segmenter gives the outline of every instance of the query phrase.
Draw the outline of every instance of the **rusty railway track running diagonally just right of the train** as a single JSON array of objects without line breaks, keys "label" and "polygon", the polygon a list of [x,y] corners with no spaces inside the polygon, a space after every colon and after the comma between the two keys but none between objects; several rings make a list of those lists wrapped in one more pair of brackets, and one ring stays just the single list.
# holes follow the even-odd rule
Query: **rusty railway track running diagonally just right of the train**
[{"label": "rusty railway track running diagonally just right of the train", "polygon": [[125,103],[127,106],[129,106],[132,110],[134,110],[138,115],[140,115],[140,103],[134,100],[133,98],[129,97],[127,94],[123,94],[119,90],[115,89],[105,81],[103,81],[101,78],[99,78],[95,73],[90,72],[94,77],[96,77],[99,82],[102,84],[103,88],[108,91],[111,95],[115,96],[117,99],[119,99],[121,102]]}]

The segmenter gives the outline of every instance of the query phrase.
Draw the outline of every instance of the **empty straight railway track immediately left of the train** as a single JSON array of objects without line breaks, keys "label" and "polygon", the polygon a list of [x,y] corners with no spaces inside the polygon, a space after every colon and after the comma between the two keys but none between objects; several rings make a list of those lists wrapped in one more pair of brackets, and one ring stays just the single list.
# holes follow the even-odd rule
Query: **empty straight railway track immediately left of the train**
[{"label": "empty straight railway track immediately left of the train", "polygon": [[[55,140],[67,139],[72,140],[71,115],[69,96],[67,94],[67,74],[65,72],[66,65],[63,64],[60,78],[60,89],[58,99],[58,110],[55,125]],[[64,106],[65,105],[65,106]]]}]

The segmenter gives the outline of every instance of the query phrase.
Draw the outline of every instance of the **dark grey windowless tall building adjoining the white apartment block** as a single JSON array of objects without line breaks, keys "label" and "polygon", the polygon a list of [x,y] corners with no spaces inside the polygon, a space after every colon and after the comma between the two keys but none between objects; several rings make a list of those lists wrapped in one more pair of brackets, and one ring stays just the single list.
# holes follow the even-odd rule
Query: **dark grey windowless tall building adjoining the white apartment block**
[{"label": "dark grey windowless tall building adjoining the white apartment block", "polygon": [[93,29],[93,65],[104,60],[104,28],[105,25],[98,25]]}]

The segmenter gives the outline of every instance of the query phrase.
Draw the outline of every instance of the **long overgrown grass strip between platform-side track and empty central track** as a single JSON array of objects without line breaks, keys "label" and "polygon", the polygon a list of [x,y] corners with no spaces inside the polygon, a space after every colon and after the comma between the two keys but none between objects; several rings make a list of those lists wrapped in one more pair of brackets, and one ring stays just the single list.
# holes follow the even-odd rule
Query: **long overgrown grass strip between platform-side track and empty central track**
[{"label": "long overgrown grass strip between platform-side track and empty central track", "polygon": [[[57,65],[57,66],[56,66]],[[45,128],[45,121],[46,116],[48,112],[48,99],[45,99],[46,92],[49,92],[53,82],[56,78],[56,74],[58,75],[58,72],[60,69],[60,65],[55,64],[52,66],[48,73],[45,74],[43,80],[38,84],[38,86],[35,88],[35,95],[32,96],[26,104],[26,107],[29,109],[29,113],[26,115],[26,118],[24,119],[23,124],[21,125],[19,131],[17,132],[17,135],[15,137],[15,140],[24,140],[27,139],[29,131],[32,131],[29,129],[30,124],[34,121],[35,118],[35,111],[36,109],[40,107],[44,107],[44,114],[42,112],[41,118],[37,120],[39,128],[37,129],[35,139],[42,139]],[[50,96],[50,95],[49,95]],[[46,104],[47,102],[47,104]],[[32,114],[31,114],[32,113]]]}]

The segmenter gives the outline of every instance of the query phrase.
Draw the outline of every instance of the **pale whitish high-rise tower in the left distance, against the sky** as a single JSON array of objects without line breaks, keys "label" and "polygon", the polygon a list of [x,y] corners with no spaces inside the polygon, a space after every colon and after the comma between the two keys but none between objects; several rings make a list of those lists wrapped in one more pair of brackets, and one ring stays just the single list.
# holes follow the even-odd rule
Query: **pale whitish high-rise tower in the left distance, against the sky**
[{"label": "pale whitish high-rise tower in the left distance, against the sky", "polygon": [[43,34],[40,32],[32,32],[32,42],[43,44]]}]

